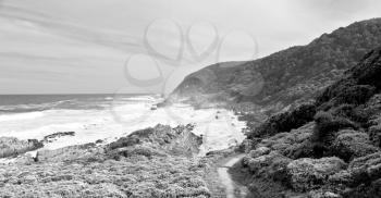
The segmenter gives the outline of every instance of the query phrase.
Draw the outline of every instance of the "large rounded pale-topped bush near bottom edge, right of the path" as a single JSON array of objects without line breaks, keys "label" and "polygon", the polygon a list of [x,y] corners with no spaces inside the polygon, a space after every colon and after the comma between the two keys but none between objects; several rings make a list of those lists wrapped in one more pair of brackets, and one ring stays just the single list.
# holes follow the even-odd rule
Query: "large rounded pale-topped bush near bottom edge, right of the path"
[{"label": "large rounded pale-topped bush near bottom edge, right of the path", "polygon": [[297,191],[306,191],[322,186],[328,177],[346,166],[335,157],[309,159],[303,158],[288,163],[286,171],[291,186]]}]

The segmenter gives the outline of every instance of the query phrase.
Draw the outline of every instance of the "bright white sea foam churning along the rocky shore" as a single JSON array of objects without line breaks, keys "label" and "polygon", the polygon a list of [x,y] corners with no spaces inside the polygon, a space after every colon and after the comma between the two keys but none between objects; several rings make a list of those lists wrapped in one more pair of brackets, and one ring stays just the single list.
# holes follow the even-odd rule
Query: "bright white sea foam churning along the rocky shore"
[{"label": "bright white sea foam churning along the rocky shore", "polygon": [[[137,99],[140,99],[137,101]],[[174,104],[151,110],[155,98],[134,97],[130,102],[106,110],[47,110],[42,112],[1,115],[0,136],[20,139],[37,138],[57,132],[75,132],[75,136],[58,138],[45,149],[94,143],[98,139],[112,141],[134,131],[157,124],[177,126],[195,124],[194,133],[204,136],[202,153],[228,148],[244,139],[245,123],[223,109],[194,110],[186,104]]]}]

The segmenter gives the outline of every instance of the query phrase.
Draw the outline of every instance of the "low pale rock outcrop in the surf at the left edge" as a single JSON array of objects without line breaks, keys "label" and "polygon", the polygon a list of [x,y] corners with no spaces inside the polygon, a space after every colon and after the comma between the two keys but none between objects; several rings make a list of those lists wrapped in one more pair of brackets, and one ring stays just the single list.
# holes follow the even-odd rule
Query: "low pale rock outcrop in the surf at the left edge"
[{"label": "low pale rock outcrop in the surf at the left edge", "polygon": [[0,137],[0,158],[15,157],[44,147],[37,139],[20,140],[15,137]]}]

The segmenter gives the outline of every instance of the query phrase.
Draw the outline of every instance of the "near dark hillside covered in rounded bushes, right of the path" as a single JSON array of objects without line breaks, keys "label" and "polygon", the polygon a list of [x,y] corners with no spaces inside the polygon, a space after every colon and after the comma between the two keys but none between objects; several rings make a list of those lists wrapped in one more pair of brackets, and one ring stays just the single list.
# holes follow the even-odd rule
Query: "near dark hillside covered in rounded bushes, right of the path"
[{"label": "near dark hillside covered in rounded bushes, right of the path", "polygon": [[377,48],[315,102],[249,131],[237,170],[247,172],[251,190],[263,197],[380,197],[380,76]]}]

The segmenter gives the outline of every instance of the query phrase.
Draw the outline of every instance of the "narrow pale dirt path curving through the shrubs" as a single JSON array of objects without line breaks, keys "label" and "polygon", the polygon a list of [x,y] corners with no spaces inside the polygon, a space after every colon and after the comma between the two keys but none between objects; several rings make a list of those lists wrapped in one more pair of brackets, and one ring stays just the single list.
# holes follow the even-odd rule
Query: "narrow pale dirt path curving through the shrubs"
[{"label": "narrow pale dirt path curving through the shrubs", "polygon": [[222,165],[217,169],[219,180],[224,185],[226,198],[248,197],[248,189],[245,186],[235,183],[229,173],[229,169],[238,162],[244,156],[245,154],[231,157],[225,163],[222,163]]}]

